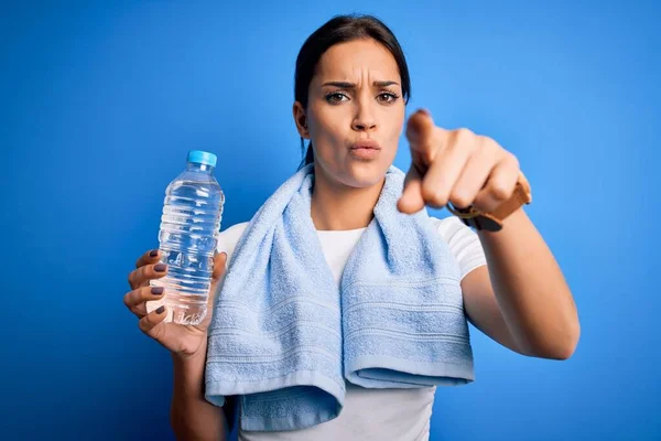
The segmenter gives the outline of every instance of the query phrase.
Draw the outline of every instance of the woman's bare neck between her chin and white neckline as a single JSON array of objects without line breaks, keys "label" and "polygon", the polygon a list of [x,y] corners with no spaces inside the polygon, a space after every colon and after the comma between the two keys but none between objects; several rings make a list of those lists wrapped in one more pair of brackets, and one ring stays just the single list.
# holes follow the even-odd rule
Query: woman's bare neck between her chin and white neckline
[{"label": "woman's bare neck between her chin and white neckline", "polygon": [[311,209],[314,226],[319,230],[367,227],[382,187],[383,182],[364,189],[350,187],[315,173]]}]

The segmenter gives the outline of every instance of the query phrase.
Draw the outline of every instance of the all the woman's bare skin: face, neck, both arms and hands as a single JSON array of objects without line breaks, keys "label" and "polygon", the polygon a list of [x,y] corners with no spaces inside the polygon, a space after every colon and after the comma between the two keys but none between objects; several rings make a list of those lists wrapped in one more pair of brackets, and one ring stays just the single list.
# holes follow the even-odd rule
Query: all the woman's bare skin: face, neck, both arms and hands
[{"label": "all the woman's bare skin: face, neck, both arms and hands", "polygon": [[[319,60],[308,90],[307,107],[295,103],[293,116],[301,137],[314,146],[311,215],[317,229],[369,224],[404,123],[412,163],[398,202],[401,212],[443,207],[448,202],[490,211],[512,194],[519,163],[496,141],[467,129],[438,127],[426,111],[405,121],[397,63],[377,42],[357,40],[330,47]],[[351,151],[365,139],[380,147],[371,159]],[[576,308],[551,250],[524,211],[508,217],[500,232],[478,235],[487,266],[462,281],[468,320],[520,354],[568,358],[579,336]],[[172,353],[171,421],[177,438],[212,440],[220,433],[225,439],[232,406],[224,411],[204,399],[212,309],[199,326],[164,323],[164,310],[145,314],[144,302],[161,297],[152,292],[149,281],[167,273],[156,271],[159,257],[148,251],[138,260],[124,303],[139,318],[140,329]],[[223,279],[226,259],[225,254],[215,257],[213,291]]]}]

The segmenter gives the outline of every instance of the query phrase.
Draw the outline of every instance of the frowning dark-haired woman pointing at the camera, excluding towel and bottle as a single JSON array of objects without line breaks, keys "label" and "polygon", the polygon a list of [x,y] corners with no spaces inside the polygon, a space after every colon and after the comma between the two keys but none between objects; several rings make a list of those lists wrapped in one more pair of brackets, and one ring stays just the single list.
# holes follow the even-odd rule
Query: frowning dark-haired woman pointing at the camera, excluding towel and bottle
[{"label": "frowning dark-haired woman pointing at the camera, excluding towel and bottle", "polygon": [[[308,37],[299,54],[293,116],[302,143],[311,141],[305,157],[315,176],[310,213],[336,281],[373,218],[404,128],[409,94],[400,45],[372,17],[334,18]],[[512,196],[520,176],[518,161],[492,139],[436,127],[423,110],[408,121],[407,136],[412,164],[397,203],[401,213],[447,204],[492,213]],[[579,335],[572,294],[523,209],[503,219],[497,232],[475,233],[457,217],[432,222],[437,240],[456,259],[465,314],[477,329],[523,355],[554,359],[572,355]],[[246,226],[220,235],[213,292],[220,288],[226,262]],[[171,419],[177,438],[224,439],[236,401],[218,407],[205,399],[213,308],[199,326],[162,323],[163,306],[145,314],[145,301],[162,295],[149,281],[167,273],[159,258],[153,250],[138,260],[124,303],[140,318],[140,329],[172,352]],[[429,438],[434,390],[368,389],[347,383],[337,418],[288,432],[241,430],[239,438],[423,440]]]}]

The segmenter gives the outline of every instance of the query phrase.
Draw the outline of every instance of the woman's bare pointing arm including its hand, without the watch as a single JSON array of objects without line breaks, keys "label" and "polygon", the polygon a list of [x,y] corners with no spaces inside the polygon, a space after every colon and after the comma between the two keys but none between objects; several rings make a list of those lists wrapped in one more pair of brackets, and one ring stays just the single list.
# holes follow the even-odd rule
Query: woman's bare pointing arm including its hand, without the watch
[{"label": "woman's bare pointing arm including its hand, without the watch", "polygon": [[[398,207],[474,206],[494,212],[513,193],[519,163],[490,138],[434,126],[426,111],[409,119],[411,169]],[[523,209],[499,232],[478,233],[487,267],[462,281],[464,304],[476,327],[521,354],[568,358],[579,324],[570,288],[555,258]]]}]

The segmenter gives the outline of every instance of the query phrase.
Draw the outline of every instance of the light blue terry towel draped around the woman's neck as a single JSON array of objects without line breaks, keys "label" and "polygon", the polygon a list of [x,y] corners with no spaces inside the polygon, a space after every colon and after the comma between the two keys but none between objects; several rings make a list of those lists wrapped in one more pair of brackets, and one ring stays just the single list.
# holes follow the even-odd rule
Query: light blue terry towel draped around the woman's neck
[{"label": "light blue terry towel draped around the woman's neck", "polygon": [[262,205],[237,244],[214,305],[206,399],[241,396],[243,430],[336,418],[345,380],[367,388],[473,381],[459,269],[425,209],[397,209],[390,166],[337,287],[311,217],[313,165]]}]

